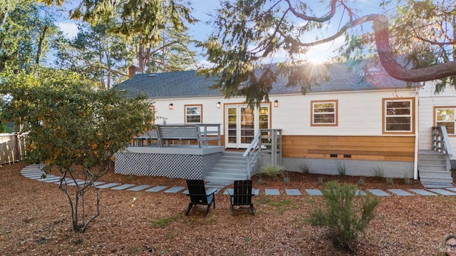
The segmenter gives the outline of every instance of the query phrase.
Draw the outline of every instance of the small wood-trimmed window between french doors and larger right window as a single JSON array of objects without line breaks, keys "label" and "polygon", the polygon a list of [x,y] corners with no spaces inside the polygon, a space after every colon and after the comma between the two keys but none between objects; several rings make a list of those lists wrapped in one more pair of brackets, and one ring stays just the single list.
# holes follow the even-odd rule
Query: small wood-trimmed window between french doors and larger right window
[{"label": "small wood-trimmed window between french doors and larger right window", "polygon": [[338,101],[311,101],[311,126],[337,126]]}]

